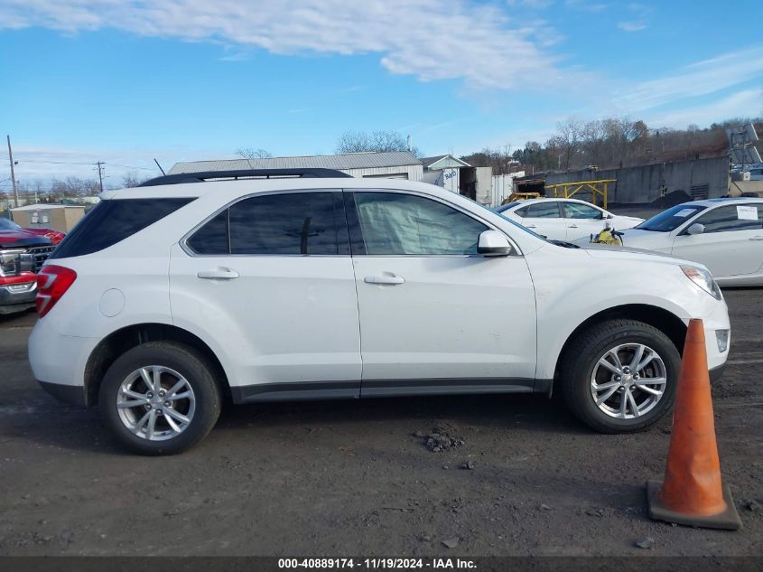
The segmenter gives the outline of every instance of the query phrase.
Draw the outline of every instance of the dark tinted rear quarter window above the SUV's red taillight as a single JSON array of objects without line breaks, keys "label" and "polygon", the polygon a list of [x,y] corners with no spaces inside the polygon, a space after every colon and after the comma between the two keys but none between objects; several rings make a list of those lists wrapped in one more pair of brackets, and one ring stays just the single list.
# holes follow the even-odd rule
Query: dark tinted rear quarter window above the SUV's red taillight
[{"label": "dark tinted rear quarter window above the SUV's red taillight", "polygon": [[50,258],[81,257],[113,246],[191,201],[191,198],[179,198],[112,199],[98,202],[66,235]]}]

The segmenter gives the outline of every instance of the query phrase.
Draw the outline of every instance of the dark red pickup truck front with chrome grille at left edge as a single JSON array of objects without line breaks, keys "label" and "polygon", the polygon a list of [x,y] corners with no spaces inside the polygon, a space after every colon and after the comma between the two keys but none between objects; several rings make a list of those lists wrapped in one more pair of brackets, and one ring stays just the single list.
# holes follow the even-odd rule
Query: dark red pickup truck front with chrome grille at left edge
[{"label": "dark red pickup truck front with chrome grille at left edge", "polygon": [[63,233],[51,229],[23,229],[0,218],[0,314],[34,306],[37,272]]}]

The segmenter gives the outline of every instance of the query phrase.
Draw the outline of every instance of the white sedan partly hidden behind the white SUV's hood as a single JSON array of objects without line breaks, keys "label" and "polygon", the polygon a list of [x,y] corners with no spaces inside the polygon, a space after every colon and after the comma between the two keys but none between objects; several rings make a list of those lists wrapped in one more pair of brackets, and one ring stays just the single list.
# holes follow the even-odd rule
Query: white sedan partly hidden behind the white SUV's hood
[{"label": "white sedan partly hidden behind the white SUV's hood", "polygon": [[551,240],[588,239],[604,229],[606,221],[615,230],[635,227],[644,219],[623,217],[577,199],[529,199],[510,202],[496,209],[498,214],[514,220]]}]

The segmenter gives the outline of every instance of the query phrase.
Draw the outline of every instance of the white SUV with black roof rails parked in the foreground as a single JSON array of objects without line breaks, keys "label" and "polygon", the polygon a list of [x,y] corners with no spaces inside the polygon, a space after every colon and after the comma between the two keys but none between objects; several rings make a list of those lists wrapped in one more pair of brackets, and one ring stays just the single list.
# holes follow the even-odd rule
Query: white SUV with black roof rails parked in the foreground
[{"label": "white SUV with black roof rails parked in the foreground", "polygon": [[197,443],[226,398],[558,388],[631,432],[671,407],[690,318],[713,373],[728,356],[704,267],[548,241],[430,184],[200,173],[101,197],[42,268],[29,356],[138,453]]}]

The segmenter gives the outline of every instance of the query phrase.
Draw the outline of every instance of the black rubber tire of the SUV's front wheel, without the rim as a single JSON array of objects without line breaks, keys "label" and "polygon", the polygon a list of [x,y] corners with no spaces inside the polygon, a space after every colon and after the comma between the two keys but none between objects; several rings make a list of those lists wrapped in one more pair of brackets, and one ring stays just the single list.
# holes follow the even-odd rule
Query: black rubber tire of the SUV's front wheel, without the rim
[{"label": "black rubber tire of the SUV's front wheel, without the rim", "polygon": [[[656,404],[639,417],[610,417],[597,406],[591,395],[591,376],[600,358],[609,349],[628,343],[644,344],[662,358],[665,365],[665,391]],[[665,333],[636,320],[610,320],[591,325],[578,334],[565,350],[560,371],[561,389],[567,407],[592,429],[601,433],[635,433],[654,425],[673,407],[680,370],[681,356]],[[604,374],[607,373],[604,371]],[[599,395],[603,397],[605,393],[602,391]],[[649,395],[643,392],[634,395],[635,399],[649,399]],[[615,395],[611,399],[625,399],[625,395]]]}]

